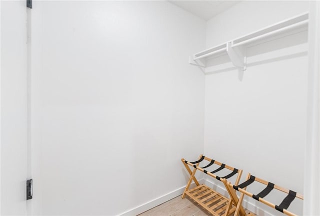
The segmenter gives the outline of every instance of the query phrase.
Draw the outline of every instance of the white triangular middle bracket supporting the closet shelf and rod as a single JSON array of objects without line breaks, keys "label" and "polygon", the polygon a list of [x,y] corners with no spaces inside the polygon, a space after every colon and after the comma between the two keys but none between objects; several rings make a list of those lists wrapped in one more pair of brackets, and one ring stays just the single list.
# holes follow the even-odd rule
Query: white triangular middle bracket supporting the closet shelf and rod
[{"label": "white triangular middle bracket supporting the closet shelf and rod", "polygon": [[242,71],[246,70],[246,55],[244,47],[232,47],[232,43],[227,42],[226,52],[235,67],[240,68]]}]

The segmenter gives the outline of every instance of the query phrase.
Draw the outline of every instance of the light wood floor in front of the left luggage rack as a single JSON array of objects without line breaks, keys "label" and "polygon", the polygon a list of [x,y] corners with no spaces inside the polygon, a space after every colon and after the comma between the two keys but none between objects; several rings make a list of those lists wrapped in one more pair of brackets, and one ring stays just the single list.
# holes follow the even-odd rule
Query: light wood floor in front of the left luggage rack
[{"label": "light wood floor in front of the left luggage rack", "polygon": [[[247,211],[247,210],[246,210]],[[249,212],[249,211],[247,211]],[[187,196],[182,199],[181,195],[164,202],[138,216],[207,216],[211,214],[196,204]]]}]

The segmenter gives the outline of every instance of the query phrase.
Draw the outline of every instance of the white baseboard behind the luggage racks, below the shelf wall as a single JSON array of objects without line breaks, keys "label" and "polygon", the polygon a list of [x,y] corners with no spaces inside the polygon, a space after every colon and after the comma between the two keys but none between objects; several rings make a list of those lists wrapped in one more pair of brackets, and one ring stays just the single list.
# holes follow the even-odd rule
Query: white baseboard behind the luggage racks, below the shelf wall
[{"label": "white baseboard behind the luggage racks, below the shelf wall", "polygon": [[[210,181],[208,179],[204,179],[203,181],[204,181],[205,185],[213,188],[218,193],[221,193],[222,195],[229,197],[229,194],[224,187],[217,185],[217,184],[214,184],[212,181]],[[259,216],[274,216],[272,213],[268,212],[267,210],[262,209],[256,205],[254,205],[252,202],[249,202],[245,199],[243,199],[242,206],[244,208],[252,211],[253,213],[259,215]]]}]

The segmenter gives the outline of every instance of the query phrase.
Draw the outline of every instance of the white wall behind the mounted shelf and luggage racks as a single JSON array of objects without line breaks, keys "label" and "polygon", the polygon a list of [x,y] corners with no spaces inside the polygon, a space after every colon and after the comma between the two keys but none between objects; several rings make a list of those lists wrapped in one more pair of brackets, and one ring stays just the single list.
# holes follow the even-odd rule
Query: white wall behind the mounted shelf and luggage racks
[{"label": "white wall behind the mounted shelf and luggage racks", "polygon": [[[241,2],[207,22],[206,48],[306,11],[308,2]],[[215,66],[205,77],[204,154],[243,169],[242,180],[251,172],[303,193],[307,34],[251,47],[247,55],[243,76],[224,57],[210,63]],[[284,194],[266,198],[279,204]],[[294,200],[289,210],[301,215],[302,201]]]}]

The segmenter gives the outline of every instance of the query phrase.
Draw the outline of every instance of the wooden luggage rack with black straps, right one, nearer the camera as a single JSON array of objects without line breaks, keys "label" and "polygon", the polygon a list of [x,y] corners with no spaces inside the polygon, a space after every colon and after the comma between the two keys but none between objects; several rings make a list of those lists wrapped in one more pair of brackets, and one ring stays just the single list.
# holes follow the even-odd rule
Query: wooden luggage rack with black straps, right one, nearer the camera
[{"label": "wooden luggage rack with black straps, right one, nearer the camera", "polygon": [[[266,187],[260,191],[258,194],[254,195],[248,191],[246,191],[246,187],[248,185],[250,185],[252,182],[254,181],[257,181],[259,183],[262,183],[264,185],[266,185]],[[226,187],[232,201],[236,204],[237,206],[237,209],[238,209],[238,206],[241,206],[241,202],[243,200],[243,196],[244,194],[247,195],[247,196],[250,196],[256,200],[258,200],[259,202],[262,202],[272,208],[275,208],[276,210],[286,214],[286,215],[290,215],[290,216],[296,216],[296,214],[290,212],[287,210],[287,208],[289,207],[289,205],[291,204],[291,202],[293,201],[293,199],[295,197],[299,198],[299,199],[302,199],[303,200],[303,195],[301,194],[298,194],[292,190],[289,190],[289,189],[285,189],[283,187],[280,187],[278,185],[275,185],[271,182],[268,182],[266,180],[263,180],[261,178],[257,178],[253,175],[251,175],[250,173],[247,174],[246,176],[246,180],[244,182],[242,182],[241,184],[235,186],[233,185],[232,183],[228,182],[226,179],[222,179],[222,182],[224,184],[224,186]],[[284,193],[287,193],[287,196],[285,196],[285,198],[282,200],[282,202],[279,204],[279,205],[276,205],[276,204],[273,204],[267,200],[265,200],[263,197],[265,197],[267,194],[269,194],[269,192],[272,190],[272,189],[277,189],[279,191],[282,191]],[[241,195],[240,197],[238,198],[236,193],[235,193],[235,190],[241,192]],[[234,212],[234,216],[236,215],[242,215],[241,212],[239,211],[235,211]],[[244,214],[245,215],[245,214]]]}]

